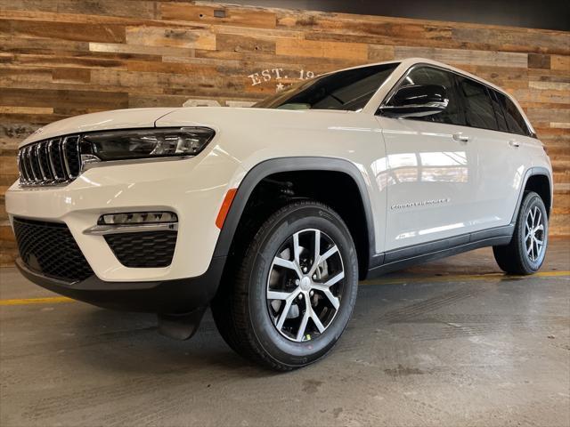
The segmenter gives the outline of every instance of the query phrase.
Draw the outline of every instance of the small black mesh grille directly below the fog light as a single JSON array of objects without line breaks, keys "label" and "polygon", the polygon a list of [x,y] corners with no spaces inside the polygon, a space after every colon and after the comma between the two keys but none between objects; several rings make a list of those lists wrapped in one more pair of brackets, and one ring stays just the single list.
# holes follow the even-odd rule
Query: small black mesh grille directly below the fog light
[{"label": "small black mesh grille directly below the fog light", "polygon": [[176,231],[144,231],[105,236],[107,244],[126,267],[167,267],[175,254]]}]

